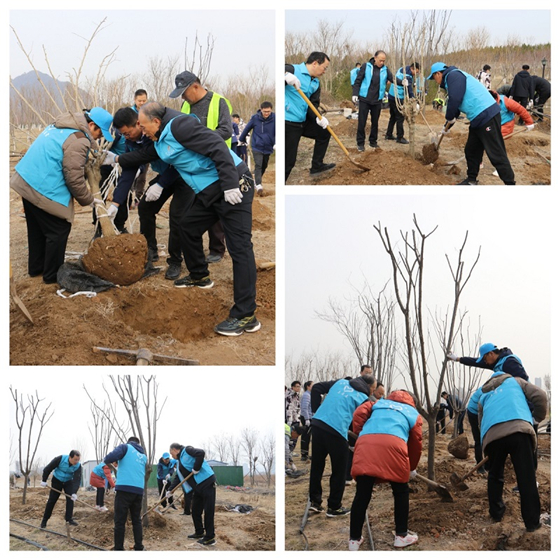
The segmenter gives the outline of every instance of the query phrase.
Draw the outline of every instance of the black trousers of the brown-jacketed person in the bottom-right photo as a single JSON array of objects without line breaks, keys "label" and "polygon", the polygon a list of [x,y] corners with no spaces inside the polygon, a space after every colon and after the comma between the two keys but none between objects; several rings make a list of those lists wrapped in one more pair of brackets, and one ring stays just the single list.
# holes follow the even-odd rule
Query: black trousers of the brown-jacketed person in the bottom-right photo
[{"label": "black trousers of the brown-jacketed person in the bottom-right photo", "polygon": [[535,528],[539,524],[541,502],[535,466],[533,464],[533,444],[531,436],[514,433],[489,443],[486,446],[488,454],[488,505],[490,516],[500,520],[504,516],[506,506],[502,499],[504,490],[504,464],[509,455],[521,501],[521,517],[527,529]]}]

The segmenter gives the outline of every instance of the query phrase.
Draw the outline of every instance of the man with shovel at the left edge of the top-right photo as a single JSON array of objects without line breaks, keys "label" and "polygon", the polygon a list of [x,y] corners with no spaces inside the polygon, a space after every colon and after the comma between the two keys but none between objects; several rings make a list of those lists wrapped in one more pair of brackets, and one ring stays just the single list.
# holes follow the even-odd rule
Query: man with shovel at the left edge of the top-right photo
[{"label": "man with shovel at the left edge of the top-right photo", "polygon": [[285,179],[288,180],[296,163],[297,151],[301,137],[314,140],[313,155],[311,157],[311,176],[318,176],[331,171],[335,163],[325,163],[323,160],[329,147],[331,134],[327,130],[329,121],[326,117],[316,117],[307,106],[305,100],[297,90],[301,90],[318,107],[321,102],[321,84],[319,78],[324,75],[330,65],[330,58],[324,52],[312,52],[305,62],[300,64],[286,64],[284,74],[285,95],[285,150],[286,169]]}]

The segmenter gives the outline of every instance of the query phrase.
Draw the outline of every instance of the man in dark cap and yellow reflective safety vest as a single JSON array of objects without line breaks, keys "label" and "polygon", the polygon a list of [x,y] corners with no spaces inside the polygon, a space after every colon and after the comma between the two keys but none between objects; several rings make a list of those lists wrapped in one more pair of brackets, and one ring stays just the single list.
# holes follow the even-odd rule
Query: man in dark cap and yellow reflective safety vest
[{"label": "man in dark cap and yellow reflective safety vest", "polygon": [[[171,99],[181,97],[181,112],[196,115],[210,130],[216,131],[228,148],[231,148],[233,123],[231,103],[214,91],[207,90],[192,72],[185,71],[175,76],[175,89],[169,94]],[[209,263],[222,260],[226,252],[223,225],[217,220],[208,230]]]}]

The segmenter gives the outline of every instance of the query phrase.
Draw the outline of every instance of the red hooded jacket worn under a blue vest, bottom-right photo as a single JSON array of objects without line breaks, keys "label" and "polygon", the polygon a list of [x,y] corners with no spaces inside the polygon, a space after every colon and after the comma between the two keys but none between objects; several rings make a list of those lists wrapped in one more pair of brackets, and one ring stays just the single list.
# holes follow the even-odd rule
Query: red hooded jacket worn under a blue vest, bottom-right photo
[{"label": "red hooded jacket worn under a blue vest, bottom-right photo", "polygon": [[[393,391],[388,400],[414,406],[406,391]],[[375,405],[366,401],[354,412],[353,431],[359,434]],[[395,414],[399,414],[395,412]],[[408,482],[410,471],[418,466],[422,454],[422,417],[410,429],[408,442],[390,434],[367,434],[358,438],[352,460],[352,477],[373,476],[376,482]]]}]

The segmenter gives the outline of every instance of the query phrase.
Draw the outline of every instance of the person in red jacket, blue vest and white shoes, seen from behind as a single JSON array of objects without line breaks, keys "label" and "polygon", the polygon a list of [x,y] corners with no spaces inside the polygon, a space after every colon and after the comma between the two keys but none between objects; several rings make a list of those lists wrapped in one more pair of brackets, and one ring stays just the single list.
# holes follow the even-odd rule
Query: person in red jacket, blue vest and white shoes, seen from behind
[{"label": "person in red jacket, blue vest and white shoes, seen from behind", "polygon": [[349,550],[358,550],[363,542],[362,528],[373,487],[382,482],[389,482],[393,491],[393,546],[417,543],[418,535],[408,530],[408,481],[414,478],[422,455],[422,417],[414,397],[398,390],[375,404],[366,401],[354,412],[352,425],[358,439],[352,466],[356,494],[350,514]]}]

